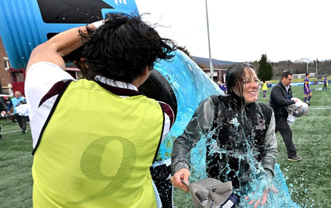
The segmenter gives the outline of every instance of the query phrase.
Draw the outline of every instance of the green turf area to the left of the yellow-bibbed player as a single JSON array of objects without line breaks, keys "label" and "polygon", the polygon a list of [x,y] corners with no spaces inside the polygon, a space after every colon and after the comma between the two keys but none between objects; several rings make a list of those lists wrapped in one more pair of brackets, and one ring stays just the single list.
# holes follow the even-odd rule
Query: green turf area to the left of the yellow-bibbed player
[{"label": "green turf area to the left of the yellow-bibbed player", "polygon": [[30,126],[22,134],[11,120],[1,119],[0,123],[0,207],[32,207]]}]

